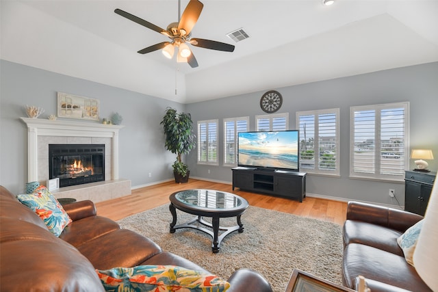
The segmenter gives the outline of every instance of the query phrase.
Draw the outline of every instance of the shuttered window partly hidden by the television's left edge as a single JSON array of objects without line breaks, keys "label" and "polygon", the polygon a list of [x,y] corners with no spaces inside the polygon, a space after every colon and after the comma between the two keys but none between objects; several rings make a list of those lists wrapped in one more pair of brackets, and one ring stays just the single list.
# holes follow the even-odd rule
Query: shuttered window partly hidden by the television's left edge
[{"label": "shuttered window partly hidden by the television's left edge", "polygon": [[247,132],[249,118],[224,119],[224,165],[237,165],[237,133]]}]

